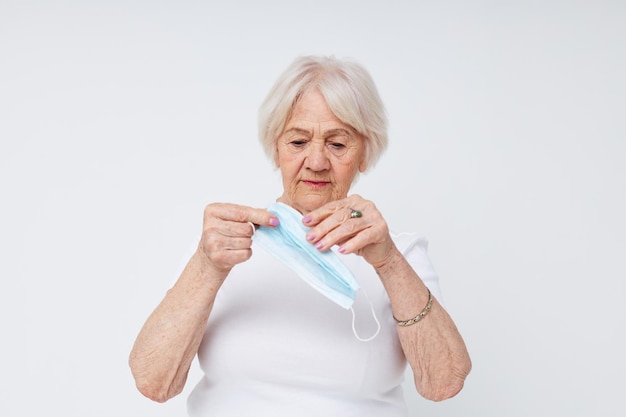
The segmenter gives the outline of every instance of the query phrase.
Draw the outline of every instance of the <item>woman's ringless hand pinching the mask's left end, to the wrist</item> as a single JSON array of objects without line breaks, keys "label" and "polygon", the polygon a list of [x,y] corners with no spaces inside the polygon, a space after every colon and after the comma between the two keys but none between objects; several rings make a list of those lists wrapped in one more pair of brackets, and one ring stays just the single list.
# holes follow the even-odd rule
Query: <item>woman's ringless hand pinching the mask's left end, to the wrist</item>
[{"label": "woman's ringless hand pinching the mask's left end, to the wrist", "polygon": [[[251,224],[252,223],[252,224]],[[255,225],[276,227],[278,218],[265,209],[230,203],[212,203],[204,209],[198,253],[223,277],[252,256]]]}]

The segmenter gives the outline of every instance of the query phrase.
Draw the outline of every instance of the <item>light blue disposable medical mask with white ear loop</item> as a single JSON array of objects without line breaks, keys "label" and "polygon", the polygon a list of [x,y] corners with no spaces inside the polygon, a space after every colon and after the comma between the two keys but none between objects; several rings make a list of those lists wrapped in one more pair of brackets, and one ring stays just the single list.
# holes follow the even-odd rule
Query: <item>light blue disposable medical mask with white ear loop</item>
[{"label": "light blue disposable medical mask with white ear loop", "polygon": [[380,331],[380,323],[371,302],[370,306],[378,330],[367,339],[360,338],[356,333],[352,304],[359,290],[359,283],[352,271],[333,251],[322,252],[306,240],[309,228],[302,223],[302,215],[298,211],[283,203],[272,204],[268,211],[278,217],[280,224],[277,227],[259,227],[253,236],[254,242],[287,265],[328,299],[345,309],[350,309],[352,330],[357,339],[369,341],[376,337]]}]

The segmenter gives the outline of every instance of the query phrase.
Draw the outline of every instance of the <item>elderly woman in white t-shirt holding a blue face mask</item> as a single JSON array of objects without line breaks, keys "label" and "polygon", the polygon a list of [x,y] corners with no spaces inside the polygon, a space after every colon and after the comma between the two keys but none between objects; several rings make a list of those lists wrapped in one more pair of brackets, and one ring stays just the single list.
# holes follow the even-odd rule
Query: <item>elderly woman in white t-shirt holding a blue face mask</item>
[{"label": "elderly woman in white t-shirt holding a blue face mask", "polygon": [[[273,209],[206,207],[197,250],[131,352],[138,389],[172,398],[197,354],[204,375],[188,399],[193,417],[406,416],[407,362],[425,398],[457,394],[470,359],[438,302],[425,240],[391,233],[373,202],[350,195],[387,144],[367,71],[298,58],[259,114],[284,191]],[[316,292],[301,279],[307,265],[313,286],[339,266],[355,281]]]}]

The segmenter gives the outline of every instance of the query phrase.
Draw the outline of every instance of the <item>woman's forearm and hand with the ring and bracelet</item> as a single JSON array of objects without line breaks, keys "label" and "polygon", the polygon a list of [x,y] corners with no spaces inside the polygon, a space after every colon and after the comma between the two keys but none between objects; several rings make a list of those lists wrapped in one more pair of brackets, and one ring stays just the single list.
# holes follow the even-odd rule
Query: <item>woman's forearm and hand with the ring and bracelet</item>
[{"label": "woman's forearm and hand with the ring and bracelet", "polygon": [[[351,217],[353,210],[362,215]],[[371,201],[352,195],[308,213],[303,222],[312,227],[307,240],[319,250],[339,245],[340,253],[356,253],[374,267],[398,320],[416,317],[428,303],[426,286],[396,248]],[[454,322],[437,300],[424,319],[398,326],[398,336],[422,396],[441,401],[461,390],[471,361]]]}]

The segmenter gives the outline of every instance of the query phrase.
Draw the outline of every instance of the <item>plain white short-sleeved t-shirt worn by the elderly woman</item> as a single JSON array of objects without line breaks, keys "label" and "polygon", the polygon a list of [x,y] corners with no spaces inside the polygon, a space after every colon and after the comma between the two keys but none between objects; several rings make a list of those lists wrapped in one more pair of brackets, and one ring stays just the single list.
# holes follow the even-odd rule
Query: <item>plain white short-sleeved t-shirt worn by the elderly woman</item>
[{"label": "plain white short-sleeved t-shirt worn by the elderly woman", "polygon": [[[438,278],[427,242],[392,235],[433,295]],[[315,291],[253,244],[252,257],[222,285],[198,358],[204,376],[187,401],[190,417],[405,417],[406,359],[388,296],[373,268],[340,255],[361,289],[352,312]],[[419,310],[422,306],[416,306]]]}]

